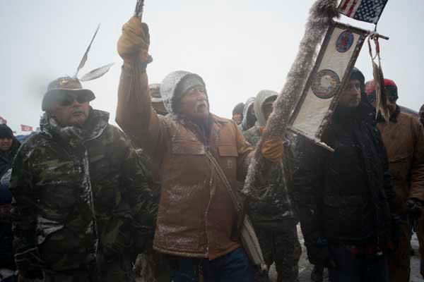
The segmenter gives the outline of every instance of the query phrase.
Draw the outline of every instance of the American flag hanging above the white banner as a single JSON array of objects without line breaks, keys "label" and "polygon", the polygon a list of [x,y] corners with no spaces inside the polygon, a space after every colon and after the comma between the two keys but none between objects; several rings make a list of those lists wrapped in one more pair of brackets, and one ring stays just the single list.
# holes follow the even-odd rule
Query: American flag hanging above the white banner
[{"label": "American flag hanging above the white banner", "polygon": [[388,0],[342,0],[338,11],[355,20],[378,23]]}]

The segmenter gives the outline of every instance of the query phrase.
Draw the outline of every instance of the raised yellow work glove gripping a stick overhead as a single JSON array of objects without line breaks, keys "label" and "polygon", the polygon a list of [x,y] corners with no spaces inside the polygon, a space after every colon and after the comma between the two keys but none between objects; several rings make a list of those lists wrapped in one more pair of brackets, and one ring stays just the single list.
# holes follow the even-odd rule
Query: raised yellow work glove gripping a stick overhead
[{"label": "raised yellow work glove gripping a stick overhead", "polygon": [[141,23],[135,16],[131,17],[122,26],[122,35],[117,44],[118,54],[124,59],[124,67],[131,69],[136,63],[144,66],[150,63],[152,59],[148,54],[149,45],[148,25]]}]

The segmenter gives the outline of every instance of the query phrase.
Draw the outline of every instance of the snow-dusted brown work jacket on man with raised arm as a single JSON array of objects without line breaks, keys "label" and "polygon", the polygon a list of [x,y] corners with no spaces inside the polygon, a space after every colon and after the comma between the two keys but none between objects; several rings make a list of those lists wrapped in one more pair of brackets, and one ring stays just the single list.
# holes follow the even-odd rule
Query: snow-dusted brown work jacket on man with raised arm
[{"label": "snow-dusted brown work jacket on man with raised arm", "polygon": [[[175,85],[185,73],[177,72],[174,85],[161,84],[165,106],[172,111]],[[139,83],[140,90],[135,83]],[[205,130],[174,113],[163,117],[151,109],[147,75],[122,69],[117,123],[160,164],[161,197],[153,247],[183,257],[214,259],[240,247],[232,236],[237,216],[225,185],[206,152],[211,152],[237,191],[245,179],[252,147],[231,120],[213,114]],[[163,93],[167,89],[167,93]]]}]

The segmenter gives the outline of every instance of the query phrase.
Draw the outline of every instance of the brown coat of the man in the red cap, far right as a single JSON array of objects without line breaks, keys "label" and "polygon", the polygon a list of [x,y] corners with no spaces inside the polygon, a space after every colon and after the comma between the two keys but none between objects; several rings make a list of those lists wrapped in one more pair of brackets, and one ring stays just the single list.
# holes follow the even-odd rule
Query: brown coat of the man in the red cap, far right
[{"label": "brown coat of the man in the red cap, far right", "polygon": [[379,118],[389,157],[389,168],[396,190],[396,212],[406,216],[406,200],[424,202],[424,128],[418,118],[400,112],[391,114],[389,123]]}]

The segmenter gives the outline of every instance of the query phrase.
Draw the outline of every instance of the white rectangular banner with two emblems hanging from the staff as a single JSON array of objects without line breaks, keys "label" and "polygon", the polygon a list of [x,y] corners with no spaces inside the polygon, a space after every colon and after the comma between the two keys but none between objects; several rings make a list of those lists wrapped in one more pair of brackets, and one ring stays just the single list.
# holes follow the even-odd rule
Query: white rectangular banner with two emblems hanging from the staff
[{"label": "white rectangular banner with two emblems hanging from the staff", "polygon": [[329,27],[290,118],[290,130],[316,143],[321,141],[322,131],[338,102],[338,94],[355,66],[368,33],[343,23],[335,22]]}]

